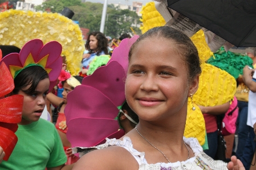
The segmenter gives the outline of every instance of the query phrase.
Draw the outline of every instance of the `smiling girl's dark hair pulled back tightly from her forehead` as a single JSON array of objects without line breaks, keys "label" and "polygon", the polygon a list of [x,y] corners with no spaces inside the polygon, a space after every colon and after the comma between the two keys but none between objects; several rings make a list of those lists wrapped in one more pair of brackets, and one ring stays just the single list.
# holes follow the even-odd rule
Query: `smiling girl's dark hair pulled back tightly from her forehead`
[{"label": "smiling girl's dark hair pulled back tightly from her forehead", "polygon": [[196,46],[194,46],[192,40],[190,40],[190,38],[188,38],[188,36],[186,36],[182,32],[167,26],[152,28],[151,30],[145,32],[145,34],[141,35],[140,38],[138,38],[130,48],[129,60],[131,59],[133,49],[136,47],[136,45],[141,40],[147,38],[165,38],[172,40],[178,46],[178,53],[180,53],[181,56],[185,57],[190,81],[194,77],[196,77],[197,74],[201,73],[198,51]]}]

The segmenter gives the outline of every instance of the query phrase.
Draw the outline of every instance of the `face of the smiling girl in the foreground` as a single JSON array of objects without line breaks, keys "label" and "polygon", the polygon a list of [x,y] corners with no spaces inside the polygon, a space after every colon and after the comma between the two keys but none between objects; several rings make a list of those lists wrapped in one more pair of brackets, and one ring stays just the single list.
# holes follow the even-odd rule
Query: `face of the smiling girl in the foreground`
[{"label": "face of the smiling girl in the foreground", "polygon": [[[125,96],[145,121],[157,121],[185,111],[191,90],[188,69],[172,40],[144,39],[129,61]],[[194,92],[194,91],[193,91]]]}]

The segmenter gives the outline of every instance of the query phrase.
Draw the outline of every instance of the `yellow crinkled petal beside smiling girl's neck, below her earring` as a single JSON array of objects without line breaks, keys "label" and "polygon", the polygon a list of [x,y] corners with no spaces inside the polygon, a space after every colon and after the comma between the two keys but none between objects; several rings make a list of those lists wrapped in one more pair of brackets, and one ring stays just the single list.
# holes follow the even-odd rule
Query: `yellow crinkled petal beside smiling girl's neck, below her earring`
[{"label": "yellow crinkled petal beside smiling girl's neck, below her earring", "polygon": [[186,138],[196,137],[201,146],[205,143],[205,119],[200,108],[194,103],[196,110],[192,110],[191,98],[188,98],[188,111],[186,115],[186,126],[184,136]]}]

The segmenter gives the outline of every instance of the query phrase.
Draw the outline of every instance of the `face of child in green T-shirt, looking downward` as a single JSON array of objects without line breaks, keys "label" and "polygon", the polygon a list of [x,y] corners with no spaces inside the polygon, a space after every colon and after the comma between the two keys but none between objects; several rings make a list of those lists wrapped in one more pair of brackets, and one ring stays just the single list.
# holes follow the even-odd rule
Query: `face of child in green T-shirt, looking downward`
[{"label": "face of child in green T-shirt, looking downward", "polygon": [[[39,120],[46,105],[46,94],[48,93],[49,85],[49,78],[44,78],[39,81],[34,94],[27,94],[19,90],[18,94],[24,96],[22,121],[19,125],[28,125]],[[24,90],[29,89],[30,86],[28,85]]]}]

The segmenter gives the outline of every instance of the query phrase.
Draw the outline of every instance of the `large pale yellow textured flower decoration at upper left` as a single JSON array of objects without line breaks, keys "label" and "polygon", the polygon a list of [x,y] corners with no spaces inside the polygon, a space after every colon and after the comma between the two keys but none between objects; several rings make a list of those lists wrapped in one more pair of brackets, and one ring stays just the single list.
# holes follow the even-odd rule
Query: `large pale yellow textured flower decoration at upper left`
[{"label": "large pale yellow textured flower decoration at upper left", "polygon": [[21,48],[32,39],[40,39],[44,44],[52,40],[62,44],[68,71],[74,76],[80,72],[85,48],[78,24],[57,13],[13,9],[0,13],[0,44]]}]

